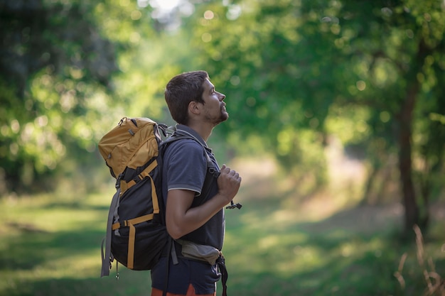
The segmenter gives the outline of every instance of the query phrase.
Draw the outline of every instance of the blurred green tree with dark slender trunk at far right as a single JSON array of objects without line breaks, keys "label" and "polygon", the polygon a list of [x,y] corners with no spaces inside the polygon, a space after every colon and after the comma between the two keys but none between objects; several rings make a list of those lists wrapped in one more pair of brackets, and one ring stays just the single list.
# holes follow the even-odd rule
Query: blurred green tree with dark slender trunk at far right
[{"label": "blurred green tree with dark slender trunk at far right", "polygon": [[404,230],[411,233],[414,224],[424,229],[431,191],[441,186],[434,179],[444,170],[444,126],[429,118],[445,111],[444,3],[343,1],[338,16],[341,48],[353,61],[349,84],[355,81],[341,100],[370,106],[371,136],[385,143],[378,150],[398,148]]}]

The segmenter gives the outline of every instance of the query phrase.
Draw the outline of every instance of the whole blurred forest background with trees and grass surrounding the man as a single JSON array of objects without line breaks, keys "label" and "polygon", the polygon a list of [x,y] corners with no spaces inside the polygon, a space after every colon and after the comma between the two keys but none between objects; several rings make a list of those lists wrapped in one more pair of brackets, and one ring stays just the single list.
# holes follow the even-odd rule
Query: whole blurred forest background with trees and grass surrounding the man
[{"label": "whole blurred forest background with trees and grass surrounding the man", "polygon": [[1,1],[0,292],[147,295],[52,259],[97,252],[102,225],[67,225],[104,220],[104,133],[173,124],[166,83],[207,70],[230,114],[209,145],[244,178],[232,293],[443,295],[444,31],[439,0]]}]

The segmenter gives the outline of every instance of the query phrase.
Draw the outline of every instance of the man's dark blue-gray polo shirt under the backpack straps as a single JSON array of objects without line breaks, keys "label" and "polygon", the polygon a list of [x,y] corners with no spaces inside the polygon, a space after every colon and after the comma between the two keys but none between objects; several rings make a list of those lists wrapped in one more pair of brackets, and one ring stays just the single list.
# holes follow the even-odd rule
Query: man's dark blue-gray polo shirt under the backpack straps
[{"label": "man's dark blue-gray polo shirt under the backpack straps", "polygon": [[[207,153],[212,160],[214,168],[219,171],[218,163],[210,148],[207,147],[203,138],[193,129],[187,126],[178,125],[178,131],[191,133],[200,143],[192,139],[182,139],[168,144],[163,155],[163,199],[166,204],[168,190],[191,190],[195,192],[195,199],[192,207],[198,207],[206,200],[211,199],[218,193],[218,183],[213,178],[209,194],[202,196],[201,192],[207,173]],[[203,146],[205,148],[203,148]],[[203,226],[190,234],[186,234],[181,239],[193,241],[203,245],[213,246],[221,250],[223,248],[225,232],[224,209],[215,214]]]}]

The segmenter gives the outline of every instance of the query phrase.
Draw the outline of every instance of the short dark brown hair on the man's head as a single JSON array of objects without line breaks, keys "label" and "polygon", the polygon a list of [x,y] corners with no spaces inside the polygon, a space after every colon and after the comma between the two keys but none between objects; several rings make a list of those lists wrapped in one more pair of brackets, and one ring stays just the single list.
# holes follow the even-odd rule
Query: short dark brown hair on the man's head
[{"label": "short dark brown hair on the man's head", "polygon": [[203,83],[208,79],[205,71],[185,72],[173,77],[166,86],[166,98],[171,117],[178,124],[188,124],[188,104],[203,103]]}]

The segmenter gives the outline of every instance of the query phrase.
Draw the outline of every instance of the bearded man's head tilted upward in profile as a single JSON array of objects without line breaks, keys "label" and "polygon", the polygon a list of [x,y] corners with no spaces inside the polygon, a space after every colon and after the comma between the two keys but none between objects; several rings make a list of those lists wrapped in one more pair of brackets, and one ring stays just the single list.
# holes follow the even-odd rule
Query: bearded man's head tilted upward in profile
[{"label": "bearded man's head tilted upward in profile", "polygon": [[178,124],[188,125],[189,106],[197,104],[205,114],[205,121],[216,125],[228,117],[223,102],[225,95],[215,91],[205,71],[185,72],[173,77],[166,86],[165,98],[171,117]]}]

